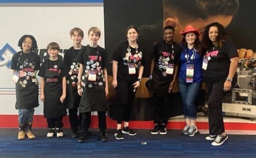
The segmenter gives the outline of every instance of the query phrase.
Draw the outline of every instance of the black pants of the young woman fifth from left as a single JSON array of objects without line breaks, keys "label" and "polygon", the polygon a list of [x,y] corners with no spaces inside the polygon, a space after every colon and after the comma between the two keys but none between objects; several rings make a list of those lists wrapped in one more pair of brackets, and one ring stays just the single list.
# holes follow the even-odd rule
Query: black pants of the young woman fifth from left
[{"label": "black pants of the young woman fifth from left", "polygon": [[132,111],[132,104],[135,98],[134,87],[131,83],[118,82],[116,90],[116,96],[118,100],[117,106],[117,123],[122,124],[122,121],[129,122]]}]

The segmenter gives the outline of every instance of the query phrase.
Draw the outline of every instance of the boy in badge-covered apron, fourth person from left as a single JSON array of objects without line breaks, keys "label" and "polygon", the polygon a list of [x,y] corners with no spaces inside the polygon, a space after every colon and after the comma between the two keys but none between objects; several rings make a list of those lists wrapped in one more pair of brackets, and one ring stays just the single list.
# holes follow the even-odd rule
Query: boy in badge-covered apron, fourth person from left
[{"label": "boy in badge-covered apron, fourth person from left", "polygon": [[108,65],[106,51],[98,46],[101,37],[99,28],[92,27],[88,31],[90,44],[83,47],[78,54],[80,63],[78,73],[78,94],[81,97],[79,112],[81,113],[81,136],[78,143],[84,143],[89,135],[91,112],[97,111],[100,137],[102,142],[108,141],[106,134],[106,96],[109,93],[107,84]]}]

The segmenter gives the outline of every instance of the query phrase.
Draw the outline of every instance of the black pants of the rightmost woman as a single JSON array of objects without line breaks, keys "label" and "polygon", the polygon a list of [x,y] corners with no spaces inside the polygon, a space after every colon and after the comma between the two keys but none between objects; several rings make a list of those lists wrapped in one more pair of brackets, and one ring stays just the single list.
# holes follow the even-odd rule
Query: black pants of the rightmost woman
[{"label": "black pants of the rightmost woman", "polygon": [[224,82],[205,82],[209,94],[208,117],[210,135],[220,135],[225,132],[222,116],[222,100],[227,94],[224,92]]}]

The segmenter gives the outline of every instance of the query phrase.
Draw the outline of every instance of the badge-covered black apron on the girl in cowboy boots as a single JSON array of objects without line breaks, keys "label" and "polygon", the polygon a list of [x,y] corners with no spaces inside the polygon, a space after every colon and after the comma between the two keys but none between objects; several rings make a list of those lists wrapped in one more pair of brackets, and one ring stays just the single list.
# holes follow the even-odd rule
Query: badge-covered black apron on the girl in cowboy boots
[{"label": "badge-covered black apron on the girl in cowboy boots", "polygon": [[[32,52],[31,52],[32,53]],[[20,53],[20,57],[23,52]],[[25,56],[25,55],[24,55]],[[25,59],[24,62],[20,61],[20,57],[17,62],[19,67],[18,73],[20,75],[16,87],[16,104],[15,108],[20,109],[33,109],[39,106],[38,103],[38,81],[36,78],[35,62],[32,59]],[[33,79],[33,82],[32,82]]]}]

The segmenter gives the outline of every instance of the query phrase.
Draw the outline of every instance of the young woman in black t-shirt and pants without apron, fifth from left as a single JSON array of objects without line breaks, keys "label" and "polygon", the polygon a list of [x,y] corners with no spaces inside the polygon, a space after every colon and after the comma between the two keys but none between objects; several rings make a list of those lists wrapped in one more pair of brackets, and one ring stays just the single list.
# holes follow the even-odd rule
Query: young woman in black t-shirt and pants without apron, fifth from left
[{"label": "young woman in black t-shirt and pants without apron, fifth from left", "polygon": [[[112,86],[116,90],[118,98],[117,131],[115,138],[123,140],[123,134],[136,135],[129,129],[129,117],[136,89],[140,86],[144,69],[142,51],[137,43],[138,29],[129,26],[127,29],[127,41],[120,42],[113,54],[113,81]],[[124,128],[121,129],[124,121]]]}]

